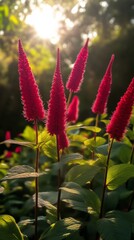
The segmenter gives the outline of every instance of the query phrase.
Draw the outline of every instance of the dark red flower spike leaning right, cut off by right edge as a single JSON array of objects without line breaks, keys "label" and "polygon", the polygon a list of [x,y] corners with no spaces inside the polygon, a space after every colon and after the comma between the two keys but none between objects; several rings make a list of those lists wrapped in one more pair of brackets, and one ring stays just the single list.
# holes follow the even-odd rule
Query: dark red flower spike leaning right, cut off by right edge
[{"label": "dark red flower spike leaning right, cut off by right edge", "polygon": [[106,132],[110,137],[120,141],[129,123],[132,107],[134,105],[134,78],[129,84],[125,94],[121,97],[117,107],[107,125]]}]

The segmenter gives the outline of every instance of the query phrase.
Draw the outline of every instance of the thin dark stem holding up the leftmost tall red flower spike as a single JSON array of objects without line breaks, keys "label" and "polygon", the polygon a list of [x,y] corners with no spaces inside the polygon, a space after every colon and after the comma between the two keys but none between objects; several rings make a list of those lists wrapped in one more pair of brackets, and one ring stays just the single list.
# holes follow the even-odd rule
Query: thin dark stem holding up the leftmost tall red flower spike
[{"label": "thin dark stem holding up the leftmost tall red flower spike", "polygon": [[[35,134],[36,134],[36,158],[35,158],[35,172],[39,170],[39,148],[38,148],[38,123],[35,121]],[[38,239],[38,192],[39,181],[38,177],[35,178],[35,240]]]}]

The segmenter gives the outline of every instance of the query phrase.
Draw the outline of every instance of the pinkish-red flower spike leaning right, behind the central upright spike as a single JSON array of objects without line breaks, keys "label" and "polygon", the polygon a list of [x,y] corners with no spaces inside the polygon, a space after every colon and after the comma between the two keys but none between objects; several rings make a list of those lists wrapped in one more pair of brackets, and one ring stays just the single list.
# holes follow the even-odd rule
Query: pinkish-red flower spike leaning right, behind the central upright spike
[{"label": "pinkish-red flower spike leaning right, behind the central upright spike", "polygon": [[88,41],[89,38],[87,39],[84,47],[81,48],[66,83],[66,88],[71,92],[78,92],[83,82],[84,72],[88,58]]}]

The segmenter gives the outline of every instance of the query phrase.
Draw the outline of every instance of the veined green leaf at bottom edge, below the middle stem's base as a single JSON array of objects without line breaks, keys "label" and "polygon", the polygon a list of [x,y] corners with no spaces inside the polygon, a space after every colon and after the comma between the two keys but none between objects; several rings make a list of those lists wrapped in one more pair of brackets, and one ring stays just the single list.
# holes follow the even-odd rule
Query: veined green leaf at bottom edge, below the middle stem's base
[{"label": "veined green leaf at bottom edge, below the middle stem's base", "polygon": [[81,223],[74,218],[65,218],[51,225],[50,230],[43,233],[40,240],[63,240],[78,231]]}]

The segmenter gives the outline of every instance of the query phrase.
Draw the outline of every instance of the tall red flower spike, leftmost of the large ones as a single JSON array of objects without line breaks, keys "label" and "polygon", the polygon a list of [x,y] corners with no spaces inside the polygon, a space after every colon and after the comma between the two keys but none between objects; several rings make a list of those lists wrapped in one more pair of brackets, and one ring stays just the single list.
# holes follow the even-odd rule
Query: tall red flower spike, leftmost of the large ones
[{"label": "tall red flower spike, leftmost of the large ones", "polygon": [[28,121],[43,120],[45,117],[43,102],[20,40],[18,48],[19,83],[23,104],[23,115]]}]

